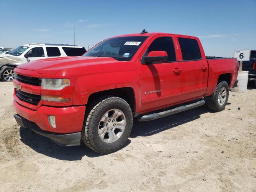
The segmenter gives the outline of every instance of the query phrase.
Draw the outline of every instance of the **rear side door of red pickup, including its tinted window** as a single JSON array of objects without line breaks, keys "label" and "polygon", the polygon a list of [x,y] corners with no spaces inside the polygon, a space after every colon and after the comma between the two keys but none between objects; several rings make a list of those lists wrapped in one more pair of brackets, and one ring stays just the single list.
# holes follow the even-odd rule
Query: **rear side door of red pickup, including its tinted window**
[{"label": "rear side door of red pickup, including its tinted window", "polygon": [[192,100],[206,93],[208,63],[198,39],[177,36],[182,56],[181,100]]}]

